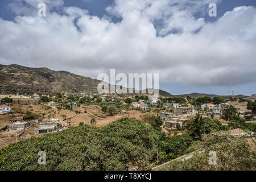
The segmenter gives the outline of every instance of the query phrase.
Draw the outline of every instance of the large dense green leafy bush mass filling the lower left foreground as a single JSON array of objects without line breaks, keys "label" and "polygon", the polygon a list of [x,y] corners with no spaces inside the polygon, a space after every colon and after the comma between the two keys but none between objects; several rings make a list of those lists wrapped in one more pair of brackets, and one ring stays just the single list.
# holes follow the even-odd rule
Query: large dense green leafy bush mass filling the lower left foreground
[{"label": "large dense green leafy bush mass filling the lower left foreground", "polygon": [[[0,170],[126,170],[143,168],[156,155],[158,135],[137,119],[121,118],[105,127],[71,127],[0,150]],[[46,165],[39,165],[39,151]]]}]

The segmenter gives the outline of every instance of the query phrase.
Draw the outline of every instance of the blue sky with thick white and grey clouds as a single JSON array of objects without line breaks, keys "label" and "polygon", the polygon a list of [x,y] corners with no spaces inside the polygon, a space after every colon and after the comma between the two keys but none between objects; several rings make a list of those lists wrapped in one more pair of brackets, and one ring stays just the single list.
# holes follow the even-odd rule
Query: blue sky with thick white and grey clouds
[{"label": "blue sky with thick white and grey clouds", "polygon": [[92,78],[159,73],[171,94],[250,96],[255,50],[254,0],[0,0],[0,64]]}]

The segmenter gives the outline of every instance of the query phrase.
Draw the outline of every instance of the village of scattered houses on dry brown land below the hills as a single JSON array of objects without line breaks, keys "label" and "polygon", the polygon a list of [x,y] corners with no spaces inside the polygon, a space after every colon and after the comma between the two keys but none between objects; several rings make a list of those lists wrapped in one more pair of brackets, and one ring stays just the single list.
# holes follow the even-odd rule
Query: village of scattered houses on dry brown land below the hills
[{"label": "village of scattered houses on dry brown land below the hills", "polygon": [[[0,148],[20,140],[67,130],[72,126],[106,126],[119,118],[136,118],[147,122],[151,115],[159,117],[162,132],[183,134],[185,123],[197,114],[218,119],[234,134],[254,134],[255,101],[234,96],[221,97],[158,97],[146,94],[98,93],[17,93],[0,95]],[[237,126],[230,113],[242,119]],[[236,130],[238,127],[242,130]],[[234,130],[234,131],[232,131]]]}]

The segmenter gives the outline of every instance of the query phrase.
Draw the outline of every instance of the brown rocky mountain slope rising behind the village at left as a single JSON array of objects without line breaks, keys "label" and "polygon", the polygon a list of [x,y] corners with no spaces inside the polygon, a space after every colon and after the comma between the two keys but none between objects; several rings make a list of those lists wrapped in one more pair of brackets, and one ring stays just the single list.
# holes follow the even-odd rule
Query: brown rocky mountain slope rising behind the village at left
[{"label": "brown rocky mountain slope rising behind the village at left", "polygon": [[100,81],[48,68],[28,68],[0,64],[0,93],[36,92],[97,92]]}]

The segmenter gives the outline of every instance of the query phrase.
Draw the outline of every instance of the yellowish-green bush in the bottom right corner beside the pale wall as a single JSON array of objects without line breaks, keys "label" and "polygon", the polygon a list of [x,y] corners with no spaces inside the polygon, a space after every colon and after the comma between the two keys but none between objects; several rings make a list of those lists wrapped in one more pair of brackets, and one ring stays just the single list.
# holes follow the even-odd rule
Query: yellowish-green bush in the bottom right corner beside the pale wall
[{"label": "yellowish-green bush in the bottom right corner beside the pale wall", "polygon": [[[256,167],[256,151],[247,143],[246,138],[229,135],[204,135],[201,141],[192,144],[199,150],[192,158],[184,161],[171,162],[163,170],[195,171],[195,170],[252,170]],[[209,164],[209,152],[216,152],[216,163]]]}]

